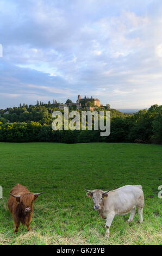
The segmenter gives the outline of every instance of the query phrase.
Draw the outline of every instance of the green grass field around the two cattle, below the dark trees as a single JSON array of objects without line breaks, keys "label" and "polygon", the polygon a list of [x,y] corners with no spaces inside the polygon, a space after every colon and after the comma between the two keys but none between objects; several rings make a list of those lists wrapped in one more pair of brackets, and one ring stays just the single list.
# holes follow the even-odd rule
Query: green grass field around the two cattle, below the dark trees
[{"label": "green grass field around the two cattle, below the dark trees", "polygon": [[[126,143],[0,143],[1,245],[160,245],[161,145]],[[31,231],[20,225],[14,234],[7,208],[17,183],[42,192],[34,203]],[[83,188],[113,190],[141,184],[145,194],[144,223],[136,212],[116,216],[105,238],[105,220],[93,209]]]}]

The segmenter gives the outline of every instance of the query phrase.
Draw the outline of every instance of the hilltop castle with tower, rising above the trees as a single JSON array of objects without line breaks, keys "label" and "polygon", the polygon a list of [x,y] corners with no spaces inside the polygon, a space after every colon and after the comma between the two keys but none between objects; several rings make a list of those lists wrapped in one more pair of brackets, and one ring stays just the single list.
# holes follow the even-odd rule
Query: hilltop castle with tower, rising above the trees
[{"label": "hilltop castle with tower, rising above the trees", "polygon": [[74,102],[71,102],[71,103],[65,103],[65,104],[60,104],[59,105],[59,108],[60,109],[64,109],[64,107],[71,107],[73,105],[76,105],[77,108],[82,108],[82,106],[87,106],[88,105],[88,102],[91,103],[92,106],[88,107],[90,108],[91,110],[93,110],[94,108],[97,108],[97,107],[100,107],[100,101],[98,99],[94,99],[94,98],[81,98],[80,95],[78,95],[78,99],[76,101],[76,103]]}]

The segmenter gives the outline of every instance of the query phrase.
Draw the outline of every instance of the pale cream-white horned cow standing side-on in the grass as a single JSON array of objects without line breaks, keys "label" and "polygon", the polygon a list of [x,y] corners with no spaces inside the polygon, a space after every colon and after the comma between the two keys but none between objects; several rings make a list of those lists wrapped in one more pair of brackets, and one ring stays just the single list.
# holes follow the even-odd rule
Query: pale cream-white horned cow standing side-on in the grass
[{"label": "pale cream-white horned cow standing side-on in the grass", "polygon": [[141,185],[126,185],[112,191],[86,190],[86,195],[94,202],[94,209],[99,216],[106,219],[106,236],[110,234],[110,225],[115,215],[124,215],[130,212],[128,222],[132,222],[136,208],[138,209],[139,222],[143,221],[144,192]]}]

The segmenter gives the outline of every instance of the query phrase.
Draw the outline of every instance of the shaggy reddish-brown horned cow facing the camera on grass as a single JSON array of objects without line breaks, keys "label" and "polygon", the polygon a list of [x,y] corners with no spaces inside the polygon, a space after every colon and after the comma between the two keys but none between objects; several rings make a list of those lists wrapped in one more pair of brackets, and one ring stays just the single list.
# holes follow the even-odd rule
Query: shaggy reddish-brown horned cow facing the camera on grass
[{"label": "shaggy reddish-brown horned cow facing the camera on grass", "polygon": [[30,230],[30,222],[33,215],[33,201],[38,198],[41,193],[30,193],[29,190],[16,184],[10,191],[8,199],[8,208],[13,215],[13,221],[15,225],[14,233],[18,231],[20,222],[27,226],[27,230]]}]

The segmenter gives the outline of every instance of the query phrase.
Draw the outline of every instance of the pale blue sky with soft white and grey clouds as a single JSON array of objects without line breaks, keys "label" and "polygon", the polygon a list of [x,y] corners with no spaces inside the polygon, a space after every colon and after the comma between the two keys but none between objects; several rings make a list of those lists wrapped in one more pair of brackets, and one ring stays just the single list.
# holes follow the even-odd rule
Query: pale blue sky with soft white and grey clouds
[{"label": "pale blue sky with soft white and grey clouds", "polygon": [[161,13],[161,0],[0,0],[0,109],[78,94],[161,105]]}]

